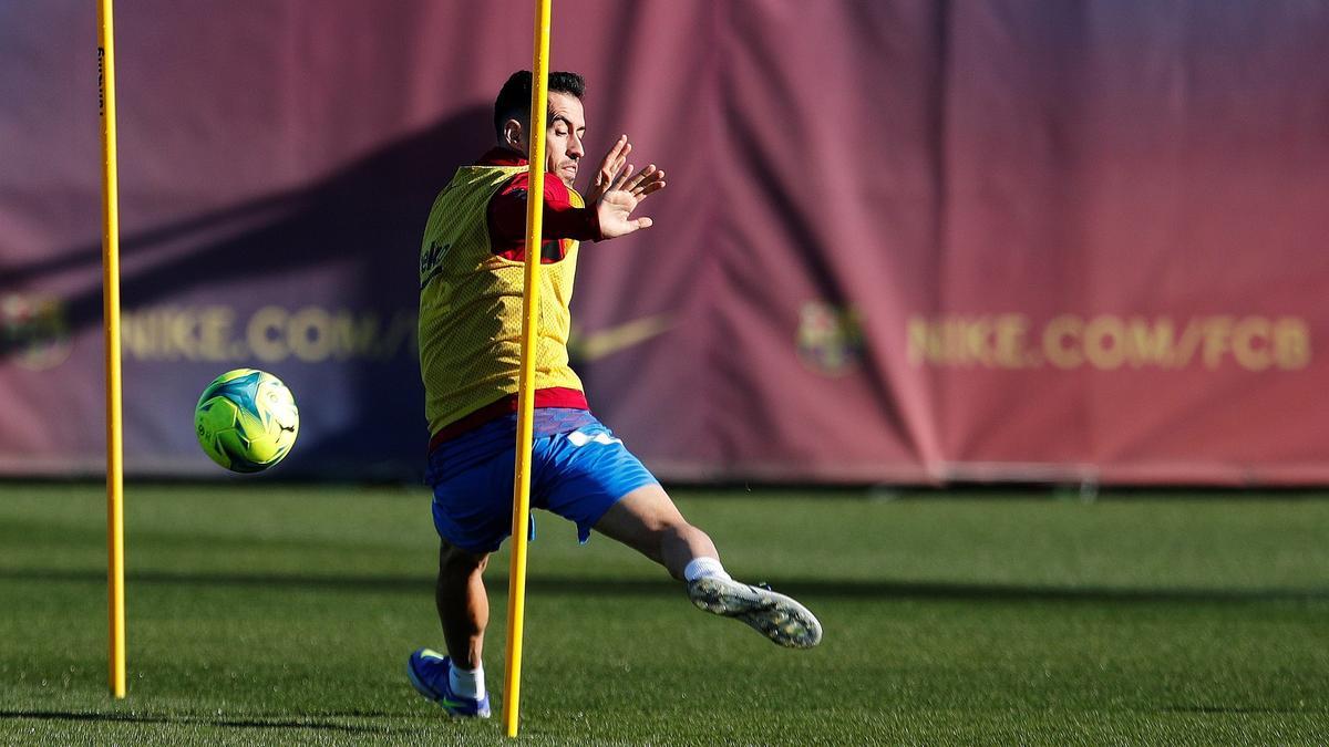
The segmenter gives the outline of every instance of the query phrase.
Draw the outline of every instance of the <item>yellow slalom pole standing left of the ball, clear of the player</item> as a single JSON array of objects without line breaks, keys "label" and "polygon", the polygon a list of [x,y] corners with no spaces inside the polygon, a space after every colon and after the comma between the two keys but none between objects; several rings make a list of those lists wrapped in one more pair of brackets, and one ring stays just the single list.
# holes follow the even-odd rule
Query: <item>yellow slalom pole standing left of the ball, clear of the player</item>
[{"label": "yellow slalom pole standing left of the ball, clear of the player", "polygon": [[106,549],[110,693],[125,696],[125,472],[120,423],[120,197],[116,170],[116,65],[110,0],[97,3],[101,109],[101,249],[106,330]]}]

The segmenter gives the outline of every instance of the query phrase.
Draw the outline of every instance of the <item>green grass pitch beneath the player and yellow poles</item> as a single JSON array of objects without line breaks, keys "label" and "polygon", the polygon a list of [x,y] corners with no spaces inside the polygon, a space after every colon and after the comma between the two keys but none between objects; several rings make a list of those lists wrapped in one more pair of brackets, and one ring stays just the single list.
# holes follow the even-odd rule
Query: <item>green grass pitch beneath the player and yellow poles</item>
[{"label": "green grass pitch beneath the player and yellow poles", "polygon": [[[0,743],[489,743],[403,667],[441,647],[416,488],[130,484],[129,698],[106,690],[105,496],[0,484]],[[540,513],[521,742],[1324,743],[1329,500],[684,492],[787,651]],[[501,703],[506,554],[489,570]]]}]

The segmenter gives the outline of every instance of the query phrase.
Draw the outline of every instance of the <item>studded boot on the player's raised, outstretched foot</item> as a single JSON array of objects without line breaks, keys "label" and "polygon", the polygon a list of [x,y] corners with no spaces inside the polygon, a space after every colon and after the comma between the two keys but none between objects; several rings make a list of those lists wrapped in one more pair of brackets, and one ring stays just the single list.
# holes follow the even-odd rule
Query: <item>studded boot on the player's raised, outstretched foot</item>
[{"label": "studded boot on the player's raised, outstretched foot", "polygon": [[742,619],[780,646],[811,649],[821,642],[821,623],[816,615],[769,587],[698,578],[687,585],[687,595],[698,609]]}]

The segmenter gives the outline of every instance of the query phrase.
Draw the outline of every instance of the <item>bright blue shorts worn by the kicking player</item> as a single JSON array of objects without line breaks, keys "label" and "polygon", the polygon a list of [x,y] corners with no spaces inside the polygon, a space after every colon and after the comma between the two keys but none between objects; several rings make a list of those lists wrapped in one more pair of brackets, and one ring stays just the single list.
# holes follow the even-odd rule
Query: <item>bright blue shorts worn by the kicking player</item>
[{"label": "bright blue shorts worn by the kicking player", "polygon": [[[433,449],[425,481],[433,486],[439,537],[481,554],[497,550],[512,534],[516,440],[513,415]],[[586,411],[537,411],[530,506],[574,521],[583,544],[609,506],[645,485],[658,482],[595,416]]]}]

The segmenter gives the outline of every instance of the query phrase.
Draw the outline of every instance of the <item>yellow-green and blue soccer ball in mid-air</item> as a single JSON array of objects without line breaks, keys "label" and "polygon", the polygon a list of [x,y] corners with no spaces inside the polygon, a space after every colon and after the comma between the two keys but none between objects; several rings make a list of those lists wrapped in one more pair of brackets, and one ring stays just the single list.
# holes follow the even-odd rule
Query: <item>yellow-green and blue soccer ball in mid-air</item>
[{"label": "yellow-green and blue soccer ball in mid-air", "polygon": [[295,444],[300,413],[280,379],[255,368],[227,371],[203,389],[194,408],[198,445],[233,472],[262,472]]}]

